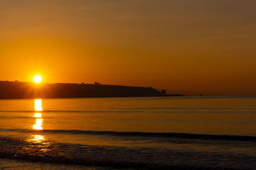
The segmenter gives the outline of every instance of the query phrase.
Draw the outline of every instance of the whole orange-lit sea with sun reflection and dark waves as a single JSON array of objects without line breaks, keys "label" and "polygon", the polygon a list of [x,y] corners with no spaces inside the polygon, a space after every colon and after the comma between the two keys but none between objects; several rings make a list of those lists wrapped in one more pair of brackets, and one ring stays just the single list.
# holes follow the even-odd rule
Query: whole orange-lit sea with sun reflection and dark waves
[{"label": "whole orange-lit sea with sun reflection and dark waves", "polygon": [[0,169],[256,169],[256,97],[0,100]]}]

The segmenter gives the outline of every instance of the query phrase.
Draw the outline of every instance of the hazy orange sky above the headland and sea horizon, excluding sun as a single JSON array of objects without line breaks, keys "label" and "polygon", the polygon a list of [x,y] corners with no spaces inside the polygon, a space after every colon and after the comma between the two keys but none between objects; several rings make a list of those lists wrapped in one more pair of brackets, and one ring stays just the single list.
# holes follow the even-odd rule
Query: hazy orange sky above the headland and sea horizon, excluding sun
[{"label": "hazy orange sky above the headland and sea horizon, excluding sun", "polygon": [[0,80],[256,95],[255,0],[0,0]]}]

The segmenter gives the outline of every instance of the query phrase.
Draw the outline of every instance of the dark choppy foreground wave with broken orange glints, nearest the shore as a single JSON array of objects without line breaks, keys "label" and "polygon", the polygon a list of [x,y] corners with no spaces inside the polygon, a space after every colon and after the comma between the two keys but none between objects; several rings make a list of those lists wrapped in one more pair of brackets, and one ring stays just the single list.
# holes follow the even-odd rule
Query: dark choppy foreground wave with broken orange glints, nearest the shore
[{"label": "dark choppy foreground wave with broken orange glints, nearest the shore", "polygon": [[[99,169],[253,169],[255,157],[171,150],[170,148],[76,145],[67,143],[33,143],[22,139],[1,138],[0,159],[26,160]],[[184,162],[184,160],[186,162]],[[227,162],[221,167],[218,161]],[[237,161],[239,160],[239,161]],[[228,167],[232,165],[232,167]],[[74,167],[75,169],[75,167]],[[90,169],[90,168],[89,168]],[[94,168],[92,168],[94,169]]]}]

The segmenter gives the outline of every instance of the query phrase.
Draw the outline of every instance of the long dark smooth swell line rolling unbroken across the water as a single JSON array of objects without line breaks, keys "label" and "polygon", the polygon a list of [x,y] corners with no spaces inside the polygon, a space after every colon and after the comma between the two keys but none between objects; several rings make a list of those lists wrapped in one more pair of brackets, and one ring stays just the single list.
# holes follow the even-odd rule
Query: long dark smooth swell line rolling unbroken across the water
[{"label": "long dark smooth swell line rolling unbroken across the water", "polygon": [[41,132],[50,134],[84,134],[114,137],[141,137],[141,138],[179,138],[179,139],[207,139],[225,141],[253,141],[256,136],[236,136],[236,135],[216,135],[216,134],[188,134],[173,132],[118,132],[118,131],[83,131],[83,130],[64,130],[64,129],[44,129],[36,131],[33,129],[0,129],[9,132]]}]

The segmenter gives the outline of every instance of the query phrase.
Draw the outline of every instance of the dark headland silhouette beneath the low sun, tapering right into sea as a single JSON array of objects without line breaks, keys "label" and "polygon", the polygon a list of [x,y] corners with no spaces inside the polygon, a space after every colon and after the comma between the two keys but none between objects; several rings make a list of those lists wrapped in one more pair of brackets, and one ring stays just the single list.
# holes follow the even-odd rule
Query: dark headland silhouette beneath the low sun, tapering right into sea
[{"label": "dark headland silhouette beneath the low sun, tapering right into sea", "polygon": [[0,81],[0,99],[76,98],[76,97],[151,97],[166,95],[166,90],[152,87],[77,83],[30,83]]}]

